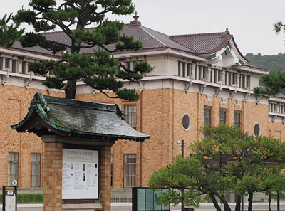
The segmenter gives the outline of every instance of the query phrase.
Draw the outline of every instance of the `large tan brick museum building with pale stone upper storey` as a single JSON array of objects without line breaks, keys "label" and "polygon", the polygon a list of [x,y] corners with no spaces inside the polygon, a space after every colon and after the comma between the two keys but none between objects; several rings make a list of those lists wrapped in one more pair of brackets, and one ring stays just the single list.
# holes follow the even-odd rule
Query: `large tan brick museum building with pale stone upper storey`
[{"label": "large tan brick museum building with pale stone upper storey", "polygon": [[[150,135],[144,142],[123,139],[113,144],[110,184],[114,194],[147,186],[153,170],[181,154],[177,141],[185,142],[184,155],[189,157],[187,146],[203,137],[199,129],[204,124],[235,124],[250,135],[284,141],[285,99],[253,95],[259,76],[266,72],[248,64],[228,29],[168,36],[142,26],[135,15],[121,33],[142,41],[142,48],[114,53],[115,58],[128,68],[140,60],[155,66],[140,83],[124,82],[126,88],[137,90],[140,100],[107,98],[81,80],[76,92],[77,100],[120,105],[126,122]],[[61,31],[46,36],[54,41],[68,39]],[[44,144],[36,134],[18,133],[11,125],[23,120],[36,92],[64,97],[62,90],[42,84],[46,75],[28,71],[29,62],[60,58],[41,48],[22,48],[19,43],[0,48],[0,169],[6,170],[0,173],[2,186],[16,179],[20,191],[42,192]]]}]

